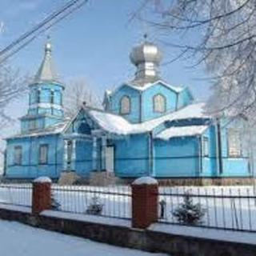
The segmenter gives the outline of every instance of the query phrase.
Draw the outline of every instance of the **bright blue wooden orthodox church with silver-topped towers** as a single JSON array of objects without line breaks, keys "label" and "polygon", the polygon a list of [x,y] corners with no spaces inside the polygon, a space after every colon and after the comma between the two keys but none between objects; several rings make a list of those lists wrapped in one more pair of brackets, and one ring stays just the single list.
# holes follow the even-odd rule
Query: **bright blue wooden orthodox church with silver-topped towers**
[{"label": "bright blue wooden orthodox church with silver-topped towers", "polygon": [[6,138],[6,178],[59,178],[66,171],[83,178],[103,171],[118,178],[250,178],[238,127],[206,114],[188,87],[166,82],[161,60],[153,43],[135,46],[134,78],[106,90],[104,110],[84,104],[66,119],[65,86],[47,42],[21,131]]}]

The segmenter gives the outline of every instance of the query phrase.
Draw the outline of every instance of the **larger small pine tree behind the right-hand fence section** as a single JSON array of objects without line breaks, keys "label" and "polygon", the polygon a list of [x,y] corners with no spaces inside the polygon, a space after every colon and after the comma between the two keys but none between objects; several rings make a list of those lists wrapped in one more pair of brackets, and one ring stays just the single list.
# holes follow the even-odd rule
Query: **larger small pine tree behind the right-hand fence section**
[{"label": "larger small pine tree behind the right-hand fence section", "polygon": [[200,203],[194,204],[191,195],[186,192],[183,202],[172,214],[179,223],[197,225],[202,223],[202,218],[206,214],[206,210],[202,208]]}]

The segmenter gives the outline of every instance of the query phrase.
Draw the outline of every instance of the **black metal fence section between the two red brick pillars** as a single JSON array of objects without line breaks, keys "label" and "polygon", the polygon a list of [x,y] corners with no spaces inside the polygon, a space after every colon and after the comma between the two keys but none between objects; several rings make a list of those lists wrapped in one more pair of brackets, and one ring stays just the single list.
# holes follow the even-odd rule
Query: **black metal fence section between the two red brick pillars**
[{"label": "black metal fence section between the two red brick pillars", "polygon": [[52,186],[55,210],[94,214],[111,218],[131,218],[129,186]]}]

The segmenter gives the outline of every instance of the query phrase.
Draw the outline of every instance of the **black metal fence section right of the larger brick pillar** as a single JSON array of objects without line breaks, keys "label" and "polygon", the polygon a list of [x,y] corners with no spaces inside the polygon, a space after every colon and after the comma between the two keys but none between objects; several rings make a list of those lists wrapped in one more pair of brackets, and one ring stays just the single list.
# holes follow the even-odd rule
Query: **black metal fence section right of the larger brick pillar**
[{"label": "black metal fence section right of the larger brick pillar", "polygon": [[[256,197],[252,187],[160,187],[159,204],[159,222],[256,231]],[[202,218],[198,222],[188,221],[198,209]]]}]

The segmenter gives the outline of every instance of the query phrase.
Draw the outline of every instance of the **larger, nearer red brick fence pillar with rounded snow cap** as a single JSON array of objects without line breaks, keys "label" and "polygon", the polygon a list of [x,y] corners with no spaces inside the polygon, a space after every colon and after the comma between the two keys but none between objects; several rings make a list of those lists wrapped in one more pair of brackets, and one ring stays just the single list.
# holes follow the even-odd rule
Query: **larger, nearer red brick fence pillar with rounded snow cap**
[{"label": "larger, nearer red brick fence pillar with rounded snow cap", "polygon": [[158,220],[158,182],[142,177],[132,184],[132,226],[145,229]]}]

